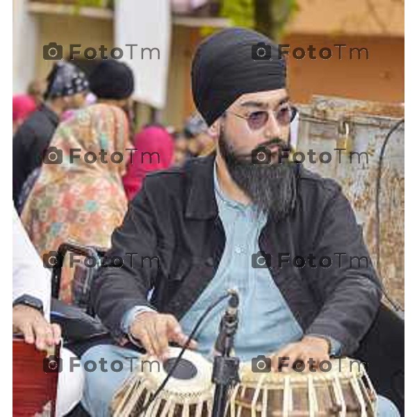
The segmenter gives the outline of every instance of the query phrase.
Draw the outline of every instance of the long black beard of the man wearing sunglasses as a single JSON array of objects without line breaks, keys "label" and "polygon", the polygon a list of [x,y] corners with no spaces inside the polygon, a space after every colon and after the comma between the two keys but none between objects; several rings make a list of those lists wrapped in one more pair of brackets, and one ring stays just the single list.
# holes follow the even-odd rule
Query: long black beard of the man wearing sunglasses
[{"label": "long black beard of the man wearing sunglasses", "polygon": [[[276,141],[279,144],[284,142]],[[288,159],[268,164],[254,164],[251,158],[238,156],[220,132],[219,149],[231,178],[250,197],[259,211],[274,220],[286,217],[295,207],[297,197],[297,166]]]}]

